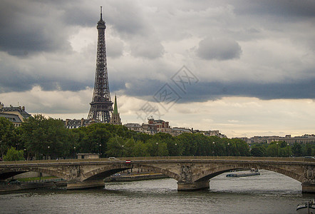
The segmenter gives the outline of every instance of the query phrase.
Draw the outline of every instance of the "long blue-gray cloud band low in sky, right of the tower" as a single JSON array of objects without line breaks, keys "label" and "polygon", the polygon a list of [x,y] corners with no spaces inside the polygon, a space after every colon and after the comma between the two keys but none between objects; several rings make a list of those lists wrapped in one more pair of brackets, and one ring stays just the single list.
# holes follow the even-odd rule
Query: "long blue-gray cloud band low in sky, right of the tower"
[{"label": "long blue-gray cloud band low in sky, right of the tower", "polygon": [[[120,84],[120,87],[116,85],[116,87],[120,90],[125,88],[123,91],[128,96],[154,101],[153,96],[164,84],[162,81],[145,80],[131,82],[128,88],[125,88],[123,84]],[[170,86],[182,97],[178,101],[179,103],[203,102],[228,96],[255,97],[263,100],[315,98],[315,78],[283,83],[199,82],[187,89],[187,93],[182,93],[172,83]]]}]

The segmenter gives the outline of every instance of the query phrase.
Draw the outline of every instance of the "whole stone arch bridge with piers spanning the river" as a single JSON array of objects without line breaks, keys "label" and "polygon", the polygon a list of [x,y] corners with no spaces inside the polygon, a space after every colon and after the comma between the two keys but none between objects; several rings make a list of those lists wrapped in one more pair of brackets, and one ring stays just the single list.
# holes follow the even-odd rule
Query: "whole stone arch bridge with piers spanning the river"
[{"label": "whole stone arch bridge with piers spanning the river", "polygon": [[[128,161],[130,160],[130,163]],[[133,157],[99,159],[66,159],[48,161],[2,161],[0,180],[34,171],[67,180],[68,189],[104,185],[103,179],[130,168],[153,170],[177,180],[177,190],[210,188],[210,179],[244,168],[272,170],[299,180],[302,192],[315,193],[315,160],[305,158],[256,157]]]}]

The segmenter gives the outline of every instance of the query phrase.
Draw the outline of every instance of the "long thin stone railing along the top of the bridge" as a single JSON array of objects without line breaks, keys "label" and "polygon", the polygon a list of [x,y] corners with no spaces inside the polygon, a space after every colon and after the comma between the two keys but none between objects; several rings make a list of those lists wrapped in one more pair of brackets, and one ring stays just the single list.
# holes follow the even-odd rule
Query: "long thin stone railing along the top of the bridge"
[{"label": "long thin stone railing along the top of the bridge", "polygon": [[0,161],[0,165],[25,163],[78,163],[95,161],[153,161],[153,160],[219,160],[219,161],[291,161],[315,162],[312,158],[280,158],[280,157],[247,157],[247,156],[155,156],[155,157],[123,157],[123,158],[96,158],[96,159],[58,159],[36,161]]}]

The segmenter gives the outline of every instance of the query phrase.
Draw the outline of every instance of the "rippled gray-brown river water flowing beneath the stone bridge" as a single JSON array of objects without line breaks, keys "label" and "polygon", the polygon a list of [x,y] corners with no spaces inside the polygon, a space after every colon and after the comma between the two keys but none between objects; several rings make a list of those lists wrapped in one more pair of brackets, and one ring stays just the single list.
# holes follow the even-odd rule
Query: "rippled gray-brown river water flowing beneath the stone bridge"
[{"label": "rippled gray-brown river water flowing beneath the stone bridge", "polygon": [[0,195],[0,213],[296,213],[314,198],[301,183],[261,170],[261,175],[212,178],[210,190],[177,192],[176,180],[105,183],[93,190],[25,190]]}]

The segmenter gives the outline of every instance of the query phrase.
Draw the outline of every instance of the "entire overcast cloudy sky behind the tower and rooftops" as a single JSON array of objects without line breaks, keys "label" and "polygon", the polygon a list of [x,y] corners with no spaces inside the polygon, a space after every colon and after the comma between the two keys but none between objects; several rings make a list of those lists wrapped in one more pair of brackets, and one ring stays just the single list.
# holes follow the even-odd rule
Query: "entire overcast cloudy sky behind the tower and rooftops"
[{"label": "entire overcast cloudy sky behind the tower and rooftops", "polygon": [[[123,123],[315,133],[315,1],[0,1],[0,101],[86,118],[103,6]],[[168,96],[168,97],[167,97]]]}]

